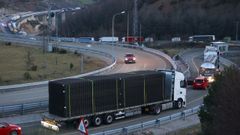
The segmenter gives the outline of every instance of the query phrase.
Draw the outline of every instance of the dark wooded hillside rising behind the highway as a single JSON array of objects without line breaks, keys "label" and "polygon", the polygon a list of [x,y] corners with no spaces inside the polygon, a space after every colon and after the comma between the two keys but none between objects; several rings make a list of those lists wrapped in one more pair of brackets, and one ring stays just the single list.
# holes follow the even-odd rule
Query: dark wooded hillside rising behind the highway
[{"label": "dark wooded hillside rising behind the highway", "polygon": [[[99,3],[70,15],[63,24],[65,36],[109,36],[115,13],[129,11],[132,33],[134,0],[101,0]],[[217,39],[235,39],[240,21],[239,0],[138,0],[141,34],[155,39],[195,34],[214,34]],[[117,16],[115,35],[126,36],[127,14]],[[138,32],[138,34],[140,34]]]}]

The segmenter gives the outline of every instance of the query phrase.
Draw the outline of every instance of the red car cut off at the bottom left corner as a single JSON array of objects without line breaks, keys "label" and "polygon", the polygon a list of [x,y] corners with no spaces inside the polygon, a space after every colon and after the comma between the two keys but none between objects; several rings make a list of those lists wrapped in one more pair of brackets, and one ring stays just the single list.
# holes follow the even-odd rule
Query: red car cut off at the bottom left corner
[{"label": "red car cut off at the bottom left corner", "polygon": [[18,125],[0,123],[0,135],[21,135],[22,129]]}]

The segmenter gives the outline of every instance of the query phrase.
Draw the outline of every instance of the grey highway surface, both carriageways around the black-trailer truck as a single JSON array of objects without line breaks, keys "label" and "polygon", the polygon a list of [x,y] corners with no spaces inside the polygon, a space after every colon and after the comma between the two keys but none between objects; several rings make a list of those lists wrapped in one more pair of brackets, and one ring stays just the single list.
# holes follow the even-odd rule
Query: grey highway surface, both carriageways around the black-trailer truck
[{"label": "grey highway surface, both carriageways around the black-trailer truck", "polygon": [[[65,45],[75,45],[73,43],[65,43]],[[130,48],[123,48],[123,47],[116,47],[116,46],[105,46],[105,45],[80,45],[81,47],[88,47],[91,49],[96,49],[99,51],[105,51],[111,53],[112,55],[116,56],[117,58],[117,65],[108,70],[104,74],[112,74],[112,73],[119,73],[119,72],[129,72],[129,71],[136,71],[136,70],[153,70],[153,69],[171,69],[170,63],[165,59],[156,56],[154,54],[150,54],[147,52],[143,52],[137,49],[130,49]],[[124,55],[126,53],[134,53],[137,60],[136,64],[125,64],[123,62]],[[200,59],[198,56],[202,54],[202,51],[189,51],[188,53],[184,54],[182,57],[184,60],[188,62],[191,66],[192,76],[196,76],[198,74],[198,66],[200,63],[196,62]],[[196,91],[188,89],[187,91],[187,108],[194,107],[202,103],[202,97],[206,95],[206,91]],[[6,92],[0,94],[0,105],[12,105],[12,104],[21,104],[21,103],[29,103],[35,101],[42,101],[48,99],[48,88],[47,86],[37,86],[33,88],[26,88],[21,89],[19,91],[14,92]],[[161,113],[159,116],[153,115],[144,115],[144,116],[137,116],[131,119],[120,120],[115,122],[111,125],[103,125],[97,128],[90,128],[90,133],[96,133],[100,131],[110,130],[118,127],[124,127],[136,123],[141,123],[149,120],[156,119],[156,117],[163,117],[169,114],[173,114],[178,112],[179,110],[171,110]],[[52,132],[48,129],[44,129],[40,127],[40,123],[28,123],[22,124],[24,135],[54,135],[54,134],[65,134],[65,135],[72,135],[72,134],[79,134],[76,129],[67,128],[64,129],[60,133]]]}]

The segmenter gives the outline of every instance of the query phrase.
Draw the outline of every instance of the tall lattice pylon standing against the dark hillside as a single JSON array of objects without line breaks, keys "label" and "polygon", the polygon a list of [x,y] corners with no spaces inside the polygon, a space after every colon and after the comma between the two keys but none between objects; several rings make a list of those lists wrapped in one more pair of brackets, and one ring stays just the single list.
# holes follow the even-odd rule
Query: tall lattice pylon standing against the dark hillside
[{"label": "tall lattice pylon standing against the dark hillside", "polygon": [[138,0],[134,0],[133,8],[133,35],[138,35]]}]

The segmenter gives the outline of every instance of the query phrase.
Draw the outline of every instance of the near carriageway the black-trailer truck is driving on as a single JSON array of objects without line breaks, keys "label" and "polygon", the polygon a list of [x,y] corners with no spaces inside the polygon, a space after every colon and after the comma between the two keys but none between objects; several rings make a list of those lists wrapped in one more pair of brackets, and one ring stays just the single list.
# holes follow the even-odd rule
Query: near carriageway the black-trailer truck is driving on
[{"label": "near carriageway the black-trailer truck is driving on", "polygon": [[[201,64],[201,58],[199,58],[199,56],[201,54],[202,54],[201,50],[200,51],[191,50],[182,55],[182,57],[185,58],[186,62],[189,65],[190,64],[193,65],[192,66],[193,69],[191,70],[191,71],[193,71],[192,75],[197,74],[197,73],[194,73],[194,72],[197,72],[197,69],[195,68],[194,65],[199,66]],[[134,65],[134,64],[132,64],[132,65]],[[120,66],[120,68],[121,68],[121,66]],[[191,86],[190,86],[187,90],[187,108],[192,108],[194,106],[202,104],[203,96],[206,94],[207,94],[207,91],[192,90]],[[183,109],[186,109],[186,108],[183,108]],[[183,110],[183,109],[181,109],[181,110]],[[123,119],[123,120],[116,121],[115,123],[113,123],[111,125],[102,125],[100,127],[91,127],[91,128],[89,128],[89,133],[97,133],[97,132],[107,131],[107,130],[116,129],[116,128],[120,128],[120,127],[126,127],[129,125],[150,121],[150,120],[156,119],[158,117],[164,117],[164,116],[179,112],[181,110],[165,111],[165,112],[162,112],[158,116],[155,116],[155,115],[142,115],[141,117],[136,116],[136,117],[132,117],[129,119]],[[64,128],[60,133],[56,133],[56,132],[53,132],[53,131],[50,131],[48,129],[41,127],[40,123],[29,123],[29,124],[23,124],[21,126],[23,127],[23,132],[25,135],[31,135],[31,134],[35,134],[35,135],[55,135],[55,134],[75,135],[75,134],[79,134],[79,131],[77,131],[76,129],[74,129],[72,127]]]}]

